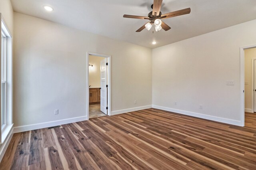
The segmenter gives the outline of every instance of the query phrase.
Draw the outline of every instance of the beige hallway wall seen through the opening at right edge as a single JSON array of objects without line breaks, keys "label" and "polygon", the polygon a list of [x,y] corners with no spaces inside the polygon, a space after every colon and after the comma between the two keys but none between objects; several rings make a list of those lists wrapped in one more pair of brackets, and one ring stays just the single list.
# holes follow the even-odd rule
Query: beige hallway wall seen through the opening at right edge
[{"label": "beige hallway wall seen through the opening at right edge", "polygon": [[252,110],[252,58],[256,58],[256,48],[244,50],[244,108],[247,112]]}]

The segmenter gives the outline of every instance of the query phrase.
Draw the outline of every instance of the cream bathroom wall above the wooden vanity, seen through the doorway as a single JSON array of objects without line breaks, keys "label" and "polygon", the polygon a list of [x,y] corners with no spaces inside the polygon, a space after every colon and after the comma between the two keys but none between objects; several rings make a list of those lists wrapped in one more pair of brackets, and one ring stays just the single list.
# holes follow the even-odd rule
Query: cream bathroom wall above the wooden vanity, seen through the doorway
[{"label": "cream bathroom wall above the wooden vanity, seen through the doorway", "polygon": [[100,61],[103,59],[105,57],[89,56],[89,64],[93,65],[89,67],[89,85],[91,85],[91,88],[100,87]]}]

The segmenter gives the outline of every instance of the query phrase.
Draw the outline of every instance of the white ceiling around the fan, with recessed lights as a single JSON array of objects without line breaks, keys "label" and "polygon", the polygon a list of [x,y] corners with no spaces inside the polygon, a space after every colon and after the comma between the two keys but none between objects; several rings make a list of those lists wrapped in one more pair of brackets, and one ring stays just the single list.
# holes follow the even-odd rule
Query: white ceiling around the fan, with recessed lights
[{"label": "white ceiling around the fan, with recessed lights", "polygon": [[[135,32],[148,20],[153,0],[11,0],[14,11],[145,47],[155,48],[256,19],[256,0],[163,0],[162,14],[191,8],[191,13],[164,20],[172,29]],[[44,5],[54,8],[46,12]],[[152,45],[152,41],[157,42]]]}]

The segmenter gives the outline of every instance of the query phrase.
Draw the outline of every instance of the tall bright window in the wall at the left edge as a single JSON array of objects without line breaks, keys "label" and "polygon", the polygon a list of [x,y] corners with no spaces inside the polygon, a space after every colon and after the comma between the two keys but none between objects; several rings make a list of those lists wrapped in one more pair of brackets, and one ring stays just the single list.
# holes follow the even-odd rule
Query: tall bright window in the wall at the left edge
[{"label": "tall bright window in the wall at the left edge", "polygon": [[1,128],[6,125],[6,34],[1,30]]}]

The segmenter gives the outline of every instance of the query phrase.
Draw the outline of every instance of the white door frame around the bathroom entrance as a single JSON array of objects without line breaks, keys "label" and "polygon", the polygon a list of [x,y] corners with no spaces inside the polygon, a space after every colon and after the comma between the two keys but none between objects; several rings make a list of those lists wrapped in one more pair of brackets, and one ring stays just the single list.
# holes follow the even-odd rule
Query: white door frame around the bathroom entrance
[{"label": "white door frame around the bathroom entrance", "polygon": [[95,55],[98,57],[106,57],[108,59],[108,116],[111,116],[111,55],[105,55],[105,54],[100,54],[100,53],[94,53],[94,52],[87,52],[86,55],[86,70],[87,70],[87,77],[86,77],[86,107],[87,107],[87,112],[86,112],[86,120],[89,120],[89,56],[90,55]]}]

